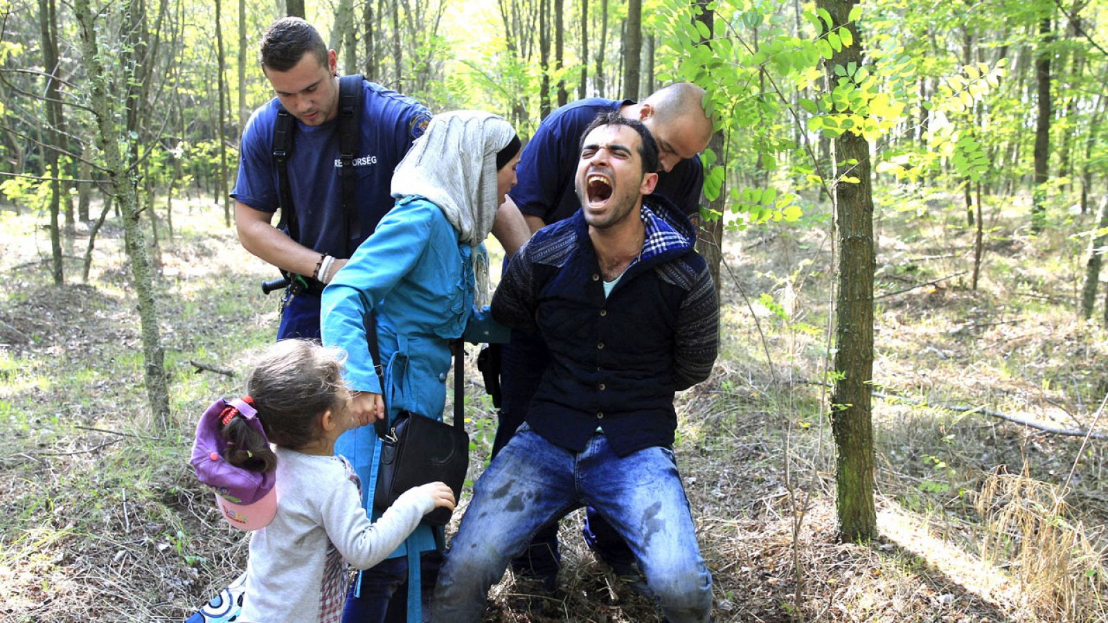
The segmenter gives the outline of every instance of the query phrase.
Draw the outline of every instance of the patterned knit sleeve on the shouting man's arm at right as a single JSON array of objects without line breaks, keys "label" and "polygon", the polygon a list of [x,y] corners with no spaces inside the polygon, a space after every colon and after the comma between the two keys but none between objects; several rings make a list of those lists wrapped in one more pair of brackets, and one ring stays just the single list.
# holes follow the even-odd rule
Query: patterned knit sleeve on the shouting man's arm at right
[{"label": "patterned knit sleeve on the shouting man's arm at right", "polygon": [[688,389],[707,379],[719,351],[719,303],[708,265],[702,261],[693,287],[681,302],[675,343],[677,389]]}]

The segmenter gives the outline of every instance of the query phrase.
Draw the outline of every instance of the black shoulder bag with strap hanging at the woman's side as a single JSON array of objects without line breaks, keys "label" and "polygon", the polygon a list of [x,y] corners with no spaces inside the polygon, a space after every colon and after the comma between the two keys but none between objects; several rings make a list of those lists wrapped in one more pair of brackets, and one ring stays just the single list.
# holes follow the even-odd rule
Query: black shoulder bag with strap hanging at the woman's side
[{"label": "black shoulder bag with strap hanging at the woman's side", "polygon": [[[366,295],[361,294],[362,305],[369,308]],[[373,357],[373,368],[377,378],[381,380],[381,399],[383,401],[388,388],[384,386],[384,369],[377,344],[377,316],[372,310],[362,317],[366,327],[366,340],[369,354]],[[381,458],[377,470],[377,487],[373,489],[373,507],[384,510],[397,501],[401,493],[427,484],[442,481],[454,492],[454,500],[460,501],[462,483],[465,482],[465,470],[470,464],[470,436],[465,433],[462,423],[462,369],[464,367],[464,350],[462,340],[456,339],[451,345],[454,354],[454,426],[437,419],[410,411],[401,411],[389,423],[377,422],[377,433],[381,438]],[[389,406],[384,405],[386,418]],[[450,521],[451,511],[437,508],[423,517],[423,522],[430,525],[444,525]]]}]

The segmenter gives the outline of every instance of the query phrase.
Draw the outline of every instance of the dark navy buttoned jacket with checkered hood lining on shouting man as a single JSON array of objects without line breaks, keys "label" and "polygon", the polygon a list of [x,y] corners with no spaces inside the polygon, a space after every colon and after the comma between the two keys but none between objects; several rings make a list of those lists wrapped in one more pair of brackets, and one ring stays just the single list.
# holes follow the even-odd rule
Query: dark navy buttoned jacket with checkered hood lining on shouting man
[{"label": "dark navy buttoned jacket with checkered hood lining on shouting man", "polygon": [[667,200],[646,200],[643,254],[607,298],[581,211],[536,232],[493,297],[493,318],[537,330],[553,359],[527,423],[573,451],[597,427],[619,456],[671,445],[674,392],[716,360],[719,307],[695,229]]}]

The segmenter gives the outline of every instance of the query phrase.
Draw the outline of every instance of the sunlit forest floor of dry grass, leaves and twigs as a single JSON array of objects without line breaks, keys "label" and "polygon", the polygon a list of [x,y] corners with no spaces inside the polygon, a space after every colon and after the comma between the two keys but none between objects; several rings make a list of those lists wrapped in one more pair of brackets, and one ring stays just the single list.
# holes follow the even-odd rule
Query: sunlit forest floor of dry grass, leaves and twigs
[{"label": "sunlit forest floor of dry grass, leaves and twigs", "polygon": [[[1058,210],[1033,237],[1018,205],[986,210],[974,292],[964,213],[895,198],[875,224],[880,535],[865,544],[837,539],[827,216],[729,234],[721,355],[679,395],[676,443],[715,620],[1108,619],[1108,445],[991,415],[1108,432],[1094,419],[1108,333],[1075,312],[1087,241],[1069,234],[1091,216]],[[273,338],[278,300],[258,282],[276,273],[222,210],[176,205],[156,253],[165,426],[146,408],[122,228],[109,221],[80,284],[79,225],[64,243],[73,285],[55,287],[44,218],[0,211],[2,621],[182,620],[244,569],[245,535],[219,521],[187,460],[199,413],[240,391],[244,359]],[[495,415],[476,382],[466,401],[483,459]],[[593,560],[579,525],[581,511],[561,529],[557,593],[509,574],[488,621],[660,620]]]}]

